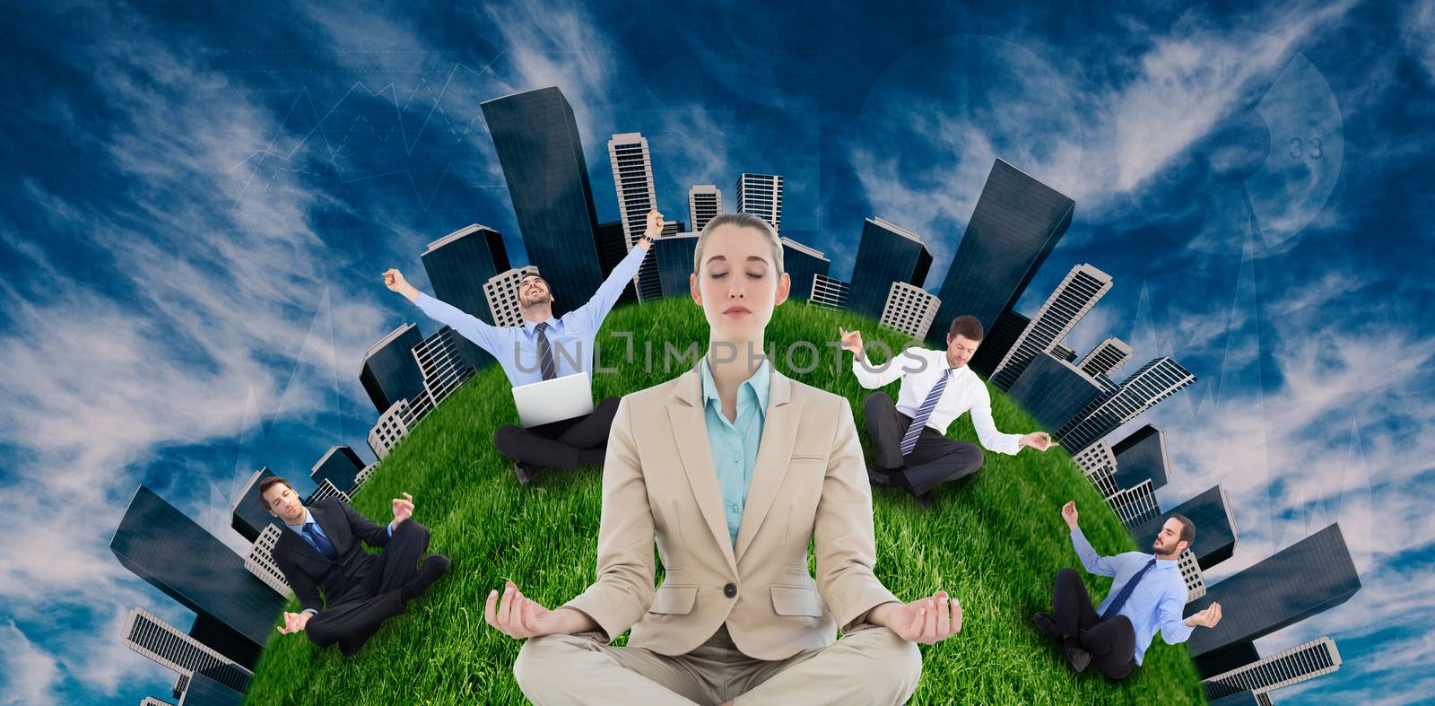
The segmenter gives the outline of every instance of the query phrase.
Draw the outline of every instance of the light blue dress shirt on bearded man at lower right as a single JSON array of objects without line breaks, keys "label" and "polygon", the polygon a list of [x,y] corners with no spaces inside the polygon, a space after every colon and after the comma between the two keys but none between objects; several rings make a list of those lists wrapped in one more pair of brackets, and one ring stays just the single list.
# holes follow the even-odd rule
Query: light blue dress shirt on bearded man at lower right
[{"label": "light blue dress shirt on bearded man at lower right", "polygon": [[[1137,571],[1141,571],[1141,567],[1155,558],[1139,551],[1101,557],[1096,550],[1091,548],[1091,542],[1086,541],[1081,528],[1072,530],[1072,547],[1086,571],[1115,578],[1111,584],[1111,593],[1101,601],[1096,614],[1105,613],[1106,604],[1121,593],[1121,587],[1126,585],[1126,581]],[[1126,616],[1131,620],[1131,627],[1135,629],[1137,664],[1141,664],[1141,657],[1145,656],[1147,646],[1151,644],[1157,630],[1161,631],[1161,639],[1167,644],[1184,643],[1191,637],[1194,629],[1187,626],[1185,618],[1181,617],[1185,610],[1185,580],[1181,578],[1181,570],[1175,560],[1157,560],[1157,565],[1151,567],[1151,571],[1147,571],[1147,575],[1141,577],[1141,581],[1132,588],[1126,604],[1116,614]]]}]

